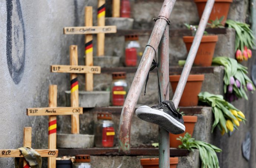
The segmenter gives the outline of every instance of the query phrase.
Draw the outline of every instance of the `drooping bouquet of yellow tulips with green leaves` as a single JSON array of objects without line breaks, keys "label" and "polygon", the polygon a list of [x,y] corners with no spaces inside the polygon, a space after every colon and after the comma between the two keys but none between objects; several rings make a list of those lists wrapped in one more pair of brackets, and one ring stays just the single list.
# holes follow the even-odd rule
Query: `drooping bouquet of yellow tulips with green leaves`
[{"label": "drooping bouquet of yellow tulips with green leaves", "polygon": [[245,121],[244,114],[229,102],[223,99],[222,95],[214,95],[209,92],[201,92],[198,94],[199,101],[207,103],[212,107],[214,113],[214,122],[211,128],[213,132],[217,126],[221,131],[221,135],[228,131],[233,132],[234,128],[240,125],[240,121]]}]

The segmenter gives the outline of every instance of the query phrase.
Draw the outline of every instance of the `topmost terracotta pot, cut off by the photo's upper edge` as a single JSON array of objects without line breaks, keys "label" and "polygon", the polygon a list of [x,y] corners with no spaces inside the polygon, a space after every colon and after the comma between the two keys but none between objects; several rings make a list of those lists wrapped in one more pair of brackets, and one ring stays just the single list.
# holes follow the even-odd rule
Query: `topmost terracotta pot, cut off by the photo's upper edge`
[{"label": "topmost terracotta pot, cut off by the photo's upper edge", "polygon": [[[194,2],[197,6],[198,15],[201,18],[207,0],[194,0]],[[232,2],[233,0],[215,0],[209,20],[215,20],[217,17],[218,19],[220,19],[220,17],[224,16],[224,19],[221,23],[225,25],[227,20],[227,14],[229,13],[230,3]]]}]

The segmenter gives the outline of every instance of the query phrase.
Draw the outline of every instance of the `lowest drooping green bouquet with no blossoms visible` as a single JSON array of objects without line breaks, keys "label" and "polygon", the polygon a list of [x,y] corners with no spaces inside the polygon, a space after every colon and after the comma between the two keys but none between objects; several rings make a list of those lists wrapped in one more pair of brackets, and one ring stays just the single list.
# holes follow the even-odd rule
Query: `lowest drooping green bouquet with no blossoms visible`
[{"label": "lowest drooping green bouquet with no blossoms visible", "polygon": [[211,145],[207,142],[197,141],[191,138],[188,132],[184,137],[180,136],[177,138],[182,142],[179,148],[188,149],[189,151],[194,151],[194,149],[199,149],[199,155],[202,162],[202,168],[219,168],[219,160],[216,152],[221,152],[222,150],[217,146]]}]

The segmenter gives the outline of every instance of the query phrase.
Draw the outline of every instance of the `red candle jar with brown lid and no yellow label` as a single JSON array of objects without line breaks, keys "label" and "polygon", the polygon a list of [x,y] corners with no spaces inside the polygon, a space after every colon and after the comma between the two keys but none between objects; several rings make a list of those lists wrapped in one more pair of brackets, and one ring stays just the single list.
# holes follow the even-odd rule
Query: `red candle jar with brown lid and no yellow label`
[{"label": "red candle jar with brown lid and no yellow label", "polygon": [[137,66],[137,59],[141,57],[141,47],[138,35],[125,36],[125,66]]}]

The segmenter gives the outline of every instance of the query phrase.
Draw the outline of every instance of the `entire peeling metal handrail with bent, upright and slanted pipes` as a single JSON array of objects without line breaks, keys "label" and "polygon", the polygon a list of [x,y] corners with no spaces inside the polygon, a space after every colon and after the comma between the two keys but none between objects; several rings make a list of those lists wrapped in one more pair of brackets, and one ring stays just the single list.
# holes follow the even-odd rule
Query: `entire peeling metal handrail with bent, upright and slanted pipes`
[{"label": "entire peeling metal handrail with bent, upright and slanted pipes", "polygon": [[[170,17],[171,11],[173,9],[175,0],[165,0],[163,6],[160,10],[160,16],[165,16],[167,18]],[[198,47],[200,45],[201,39],[203,37],[204,30],[206,28],[208,19],[210,17],[211,10],[213,8],[214,0],[208,0],[202,14],[200,23],[198,25],[198,29],[196,35],[194,37],[193,43],[191,45],[190,51],[188,53],[188,57],[186,63],[184,65],[183,71],[181,73],[180,80],[178,82],[176,91],[173,96],[173,102],[175,107],[178,107],[180,102],[181,95],[183,93],[184,87],[187,82],[188,75],[190,73],[191,67],[193,65],[194,59],[196,57],[196,53]],[[168,89],[166,85],[166,80],[168,80],[169,68],[168,68],[168,26],[167,22],[163,19],[158,19],[155,23],[154,29],[152,30],[150,39],[148,40],[148,45],[151,45],[155,49],[159,46],[159,54],[158,62],[160,66],[158,67],[158,72],[163,73],[160,76],[160,88],[161,95],[164,96],[166,89]],[[142,86],[145,82],[146,76],[149,72],[152,60],[154,58],[154,50],[151,47],[146,47],[144,54],[142,56],[140,65],[138,66],[135,77],[132,81],[131,88],[128,92],[127,98],[124,102],[124,107],[122,108],[120,124],[119,124],[119,153],[120,154],[130,154],[130,129],[131,129],[131,119],[132,114],[134,112],[135,105],[138,101],[139,95],[141,92]],[[168,92],[168,91],[167,91]],[[166,97],[168,98],[169,94],[167,93]],[[160,127],[159,129],[159,167],[160,168],[169,168],[169,133]]]}]

